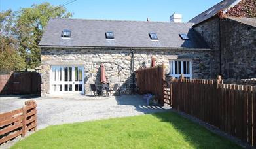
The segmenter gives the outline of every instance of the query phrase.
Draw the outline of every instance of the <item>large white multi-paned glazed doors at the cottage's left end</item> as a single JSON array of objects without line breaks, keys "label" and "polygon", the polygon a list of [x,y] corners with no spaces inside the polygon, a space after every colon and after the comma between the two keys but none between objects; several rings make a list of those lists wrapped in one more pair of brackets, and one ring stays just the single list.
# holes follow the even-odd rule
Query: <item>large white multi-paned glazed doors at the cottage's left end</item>
[{"label": "large white multi-paned glazed doors at the cottage's left end", "polygon": [[84,67],[52,65],[50,71],[51,94],[84,94]]}]

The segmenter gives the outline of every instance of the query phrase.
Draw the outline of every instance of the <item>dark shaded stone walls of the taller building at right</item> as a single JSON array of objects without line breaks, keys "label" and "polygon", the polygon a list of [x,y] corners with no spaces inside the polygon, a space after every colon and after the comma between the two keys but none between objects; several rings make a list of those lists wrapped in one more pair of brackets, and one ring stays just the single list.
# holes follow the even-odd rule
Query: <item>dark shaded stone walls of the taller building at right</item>
[{"label": "dark shaded stone walls of the taller building at right", "polygon": [[[225,79],[256,78],[255,27],[229,18],[219,20],[215,16],[194,25],[194,29],[204,37],[210,48],[215,50],[211,54],[211,59],[214,59],[211,61],[213,68],[211,77],[221,73]],[[221,50],[221,71],[219,50]]]}]

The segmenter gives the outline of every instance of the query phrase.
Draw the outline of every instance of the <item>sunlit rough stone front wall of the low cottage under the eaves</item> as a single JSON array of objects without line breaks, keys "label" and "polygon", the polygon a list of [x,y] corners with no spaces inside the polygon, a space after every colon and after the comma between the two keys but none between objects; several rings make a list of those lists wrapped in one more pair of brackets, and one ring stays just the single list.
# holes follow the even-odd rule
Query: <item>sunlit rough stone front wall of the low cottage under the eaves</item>
[{"label": "sunlit rough stone front wall of the low cottage under the eaves", "polygon": [[[150,67],[151,56],[155,56],[156,65],[165,63],[166,74],[169,74],[170,59],[191,59],[192,77],[210,78],[210,52],[211,50],[137,49],[134,50],[134,71]],[[89,84],[100,83],[100,63],[105,66],[107,81],[111,86],[120,82],[121,93],[130,93],[132,90],[132,52],[129,48],[41,48],[42,95],[48,94],[50,90],[49,63],[52,61],[60,64],[64,61],[83,61],[86,93],[89,91]]]}]

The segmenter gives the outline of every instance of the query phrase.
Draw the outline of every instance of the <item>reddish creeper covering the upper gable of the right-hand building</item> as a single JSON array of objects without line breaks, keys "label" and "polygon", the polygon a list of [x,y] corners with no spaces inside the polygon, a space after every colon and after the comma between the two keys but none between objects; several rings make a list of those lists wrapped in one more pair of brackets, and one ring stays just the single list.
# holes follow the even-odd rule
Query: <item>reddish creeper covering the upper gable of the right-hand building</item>
[{"label": "reddish creeper covering the upper gable of the right-hand building", "polygon": [[228,16],[256,18],[256,1],[242,0],[227,12]]}]

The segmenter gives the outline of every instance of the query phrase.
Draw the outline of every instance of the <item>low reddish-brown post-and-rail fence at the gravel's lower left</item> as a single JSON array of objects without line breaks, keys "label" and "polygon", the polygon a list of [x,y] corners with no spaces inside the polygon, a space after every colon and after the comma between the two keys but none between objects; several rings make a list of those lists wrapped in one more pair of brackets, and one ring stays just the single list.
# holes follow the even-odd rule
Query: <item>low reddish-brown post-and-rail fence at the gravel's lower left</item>
[{"label": "low reddish-brown post-and-rail fence at the gravel's lower left", "polygon": [[33,100],[17,110],[0,114],[0,144],[14,139],[19,135],[24,137],[27,131],[37,129],[37,104]]}]

